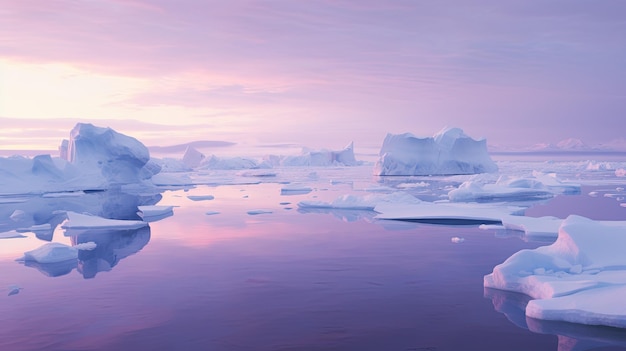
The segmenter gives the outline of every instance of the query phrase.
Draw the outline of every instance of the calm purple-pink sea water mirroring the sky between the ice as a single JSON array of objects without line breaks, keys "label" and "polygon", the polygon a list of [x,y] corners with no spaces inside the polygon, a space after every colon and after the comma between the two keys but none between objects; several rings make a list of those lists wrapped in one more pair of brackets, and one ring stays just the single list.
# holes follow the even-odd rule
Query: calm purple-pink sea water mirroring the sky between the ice
[{"label": "calm purple-pink sea water mirroring the sky between the ice", "polygon": [[[368,212],[298,211],[300,200],[360,191],[367,179],[331,185],[323,174],[301,177],[315,185],[311,193],[281,196],[280,184],[236,184],[3,204],[2,218],[15,207],[41,207],[35,222],[58,207],[128,218],[137,204],[179,207],[137,231],[64,237],[57,230],[54,241],[98,244],[63,265],[15,262],[43,243],[34,237],[0,240],[0,288],[23,288],[0,297],[0,350],[564,351],[626,345],[623,330],[526,320],[525,297],[483,289],[483,276],[495,265],[545,243],[472,226],[376,221]],[[595,190],[600,200],[583,206]],[[574,207],[590,217],[608,208],[624,216],[626,208],[602,196],[604,190],[615,192],[589,187],[568,203],[578,202]],[[215,200],[187,198],[207,194]],[[529,215],[554,215],[563,200],[552,201],[556,205],[544,203]],[[246,213],[256,209],[272,213]],[[455,236],[465,242],[452,243]],[[620,348],[603,348],[609,349]]]}]

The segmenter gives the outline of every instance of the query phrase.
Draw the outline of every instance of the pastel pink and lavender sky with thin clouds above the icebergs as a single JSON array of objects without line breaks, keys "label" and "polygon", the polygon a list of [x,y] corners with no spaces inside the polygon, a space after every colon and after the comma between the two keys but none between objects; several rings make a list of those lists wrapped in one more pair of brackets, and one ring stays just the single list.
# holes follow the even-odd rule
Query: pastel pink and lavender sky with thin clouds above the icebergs
[{"label": "pastel pink and lavender sky with thin clouds above the icebergs", "polygon": [[0,148],[626,134],[621,0],[0,0]]}]

